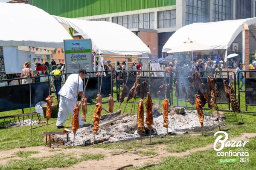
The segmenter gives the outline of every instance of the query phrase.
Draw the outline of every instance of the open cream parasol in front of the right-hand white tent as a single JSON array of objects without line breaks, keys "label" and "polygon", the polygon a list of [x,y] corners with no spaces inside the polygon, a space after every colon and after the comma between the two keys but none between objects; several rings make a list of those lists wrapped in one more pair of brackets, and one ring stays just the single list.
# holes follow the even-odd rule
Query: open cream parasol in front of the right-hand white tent
[{"label": "open cream parasol in front of the right-hand white tent", "polygon": [[[211,46],[201,44],[196,41],[192,41],[190,39],[184,41],[182,44],[177,45],[172,50],[168,51],[167,53],[177,53],[177,52],[185,52],[185,51],[204,51],[204,50],[213,50]],[[192,60],[193,60],[193,53],[192,53]]]}]

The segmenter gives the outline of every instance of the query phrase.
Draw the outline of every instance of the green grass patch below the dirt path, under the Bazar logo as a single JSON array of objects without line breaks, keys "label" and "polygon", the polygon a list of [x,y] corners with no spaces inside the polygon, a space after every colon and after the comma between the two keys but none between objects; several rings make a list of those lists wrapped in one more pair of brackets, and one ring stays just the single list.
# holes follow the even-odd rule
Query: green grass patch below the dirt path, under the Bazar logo
[{"label": "green grass patch below the dirt path, under the Bazar logo", "polygon": [[[250,144],[252,143],[252,144]],[[255,170],[256,167],[256,138],[249,139],[246,144],[249,149],[249,162],[233,162],[219,164],[217,159],[240,158],[239,156],[217,156],[216,151],[212,149],[198,151],[183,157],[169,156],[156,166],[144,168],[144,170]],[[222,151],[228,152],[236,149],[224,148]],[[242,158],[242,157],[241,157]],[[245,157],[244,157],[245,158]]]}]

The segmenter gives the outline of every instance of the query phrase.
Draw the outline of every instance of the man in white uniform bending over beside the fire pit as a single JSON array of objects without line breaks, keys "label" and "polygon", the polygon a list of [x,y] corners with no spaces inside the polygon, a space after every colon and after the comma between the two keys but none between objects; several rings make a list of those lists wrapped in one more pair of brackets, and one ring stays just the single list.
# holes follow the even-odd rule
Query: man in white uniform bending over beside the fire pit
[{"label": "man in white uniform bending over beside the fire pit", "polygon": [[[56,122],[57,128],[63,128],[64,122],[66,122],[68,113],[70,113],[71,117],[73,117],[73,109],[76,105],[76,96],[82,96],[83,94],[83,79],[86,74],[84,69],[79,70],[79,74],[71,74],[65,84],[62,86],[59,95],[61,96],[59,103],[59,111],[58,118]],[[79,88],[77,91],[79,79]],[[79,126],[83,126],[83,121],[81,120],[81,116],[79,113]]]}]

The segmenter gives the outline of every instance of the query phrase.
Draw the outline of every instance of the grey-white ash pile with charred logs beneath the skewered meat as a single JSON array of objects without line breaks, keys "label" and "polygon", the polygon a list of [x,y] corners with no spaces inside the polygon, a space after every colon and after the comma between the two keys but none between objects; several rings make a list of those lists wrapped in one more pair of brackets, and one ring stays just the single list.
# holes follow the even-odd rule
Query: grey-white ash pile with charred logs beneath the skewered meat
[{"label": "grey-white ash pile with charred logs beneath the skewered meat", "polygon": [[[151,137],[164,136],[167,133],[167,129],[163,127],[163,113],[159,113],[157,110],[160,105],[154,103],[154,125],[151,129]],[[140,131],[137,131],[137,115],[120,114],[117,111],[113,114],[103,115],[99,123],[99,130],[95,135],[96,143],[109,143],[128,141],[132,139],[140,138]],[[149,130],[145,124],[144,113],[144,127],[145,133],[142,136],[149,136]],[[187,132],[200,132],[200,122],[198,114],[193,110],[186,110],[180,107],[172,107],[169,105],[169,134],[181,134]],[[223,122],[220,119],[220,122]],[[204,129],[209,130],[218,126],[218,119],[213,119],[212,116],[204,116]],[[93,144],[93,125],[80,128],[76,131],[75,146],[86,146]],[[62,142],[66,142],[66,136],[57,135],[56,139]],[[69,142],[65,145],[73,145],[73,133],[69,135]]]}]

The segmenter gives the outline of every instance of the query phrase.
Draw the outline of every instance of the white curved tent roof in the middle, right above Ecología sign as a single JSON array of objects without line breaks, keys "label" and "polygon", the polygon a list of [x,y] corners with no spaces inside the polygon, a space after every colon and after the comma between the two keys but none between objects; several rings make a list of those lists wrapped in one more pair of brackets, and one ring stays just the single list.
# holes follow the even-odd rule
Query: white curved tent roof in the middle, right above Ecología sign
[{"label": "white curved tent roof in the middle, right above Ecolog\u00eda sign", "polygon": [[85,39],[92,39],[92,48],[96,54],[130,54],[150,53],[150,49],[134,33],[123,26],[106,21],[87,21],[55,17],[78,31]]}]

